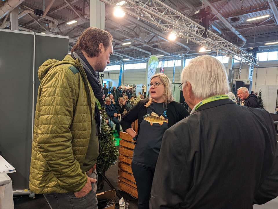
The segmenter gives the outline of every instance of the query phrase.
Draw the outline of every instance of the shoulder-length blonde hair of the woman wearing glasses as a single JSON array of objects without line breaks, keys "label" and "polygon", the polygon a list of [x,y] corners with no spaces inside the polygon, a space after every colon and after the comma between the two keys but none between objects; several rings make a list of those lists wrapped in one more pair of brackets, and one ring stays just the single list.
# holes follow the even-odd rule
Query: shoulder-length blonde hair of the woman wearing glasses
[{"label": "shoulder-length blonde hair of the woman wearing glasses", "polygon": [[[163,73],[157,73],[151,77],[151,80],[155,77],[158,77],[162,84],[164,84],[164,92],[163,92],[163,106],[164,104],[169,104],[171,101],[174,101],[174,97],[172,95],[172,84],[170,79],[167,77],[167,75]],[[145,104],[145,107],[149,107],[151,103],[153,102],[152,98],[149,98],[149,101]]]}]

